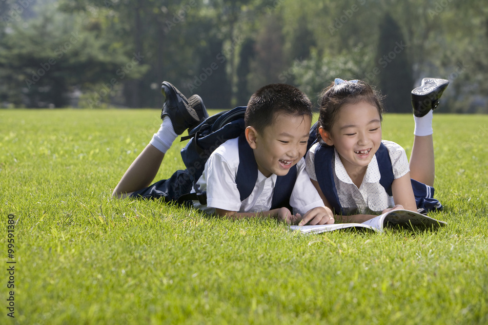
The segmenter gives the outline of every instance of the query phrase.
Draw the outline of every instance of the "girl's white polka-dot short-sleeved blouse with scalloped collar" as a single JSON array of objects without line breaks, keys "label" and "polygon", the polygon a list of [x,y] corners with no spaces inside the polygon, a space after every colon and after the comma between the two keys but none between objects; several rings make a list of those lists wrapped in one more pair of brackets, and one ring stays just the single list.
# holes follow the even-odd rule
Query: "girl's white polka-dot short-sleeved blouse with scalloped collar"
[{"label": "girl's white polka-dot short-sleeved blouse with scalloped collar", "polygon": [[[393,177],[400,178],[410,171],[408,165],[407,153],[398,144],[392,141],[381,141],[388,150],[391,166],[393,168]],[[306,171],[311,179],[317,180],[315,174],[315,151],[321,144],[314,144],[306,154]],[[334,183],[337,189],[339,203],[346,214],[369,214],[379,212],[386,208],[392,208],[395,203],[393,196],[386,193],[385,188],[380,184],[380,170],[376,155],[367,166],[365,177],[361,186],[358,187],[352,182],[346,172],[346,168],[339,157],[339,153],[334,149]]]}]

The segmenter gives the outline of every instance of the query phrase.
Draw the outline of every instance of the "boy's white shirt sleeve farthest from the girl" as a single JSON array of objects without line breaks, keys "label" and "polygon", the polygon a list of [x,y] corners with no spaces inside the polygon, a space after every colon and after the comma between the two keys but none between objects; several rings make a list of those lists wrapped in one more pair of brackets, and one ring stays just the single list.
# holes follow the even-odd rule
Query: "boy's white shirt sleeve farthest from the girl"
[{"label": "boy's white shirt sleeve farthest from the girl", "polygon": [[224,156],[212,154],[206,164],[207,207],[228,211],[241,209],[241,195],[237,189],[237,166],[232,166]]}]

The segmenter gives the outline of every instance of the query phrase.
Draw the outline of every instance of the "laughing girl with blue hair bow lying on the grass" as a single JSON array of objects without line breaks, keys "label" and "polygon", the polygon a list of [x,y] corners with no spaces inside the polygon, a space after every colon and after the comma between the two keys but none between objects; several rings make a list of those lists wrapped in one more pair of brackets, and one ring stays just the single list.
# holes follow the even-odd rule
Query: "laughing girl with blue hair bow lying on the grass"
[{"label": "laughing girl with blue hair bow lying on the grass", "polygon": [[321,95],[318,141],[306,170],[336,220],[364,222],[393,209],[427,212],[433,195],[432,110],[448,81],[425,78],[412,91],[414,145],[407,160],[398,144],[381,139],[381,97],[360,80],[335,79]]}]

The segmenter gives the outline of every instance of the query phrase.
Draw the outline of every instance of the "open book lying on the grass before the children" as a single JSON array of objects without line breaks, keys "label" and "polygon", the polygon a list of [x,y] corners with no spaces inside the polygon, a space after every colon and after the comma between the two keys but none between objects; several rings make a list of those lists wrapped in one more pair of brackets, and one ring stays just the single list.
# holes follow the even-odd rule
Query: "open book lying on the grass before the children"
[{"label": "open book lying on the grass before the children", "polygon": [[401,227],[406,229],[438,229],[446,226],[447,223],[427,217],[417,212],[408,210],[391,210],[382,215],[374,217],[361,224],[333,224],[333,225],[318,225],[318,226],[290,226],[293,230],[299,230],[303,233],[321,233],[325,231],[334,231],[338,229],[356,229],[356,230],[372,230],[383,232],[386,227]]}]

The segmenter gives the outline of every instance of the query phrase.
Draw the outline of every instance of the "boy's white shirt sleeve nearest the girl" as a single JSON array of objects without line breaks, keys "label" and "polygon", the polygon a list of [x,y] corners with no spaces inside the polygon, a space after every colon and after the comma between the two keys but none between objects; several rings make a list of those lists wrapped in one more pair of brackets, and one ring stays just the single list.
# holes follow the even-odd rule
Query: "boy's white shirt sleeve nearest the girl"
[{"label": "boy's white shirt sleeve nearest the girl", "polygon": [[298,212],[302,216],[313,208],[324,207],[322,198],[305,170],[304,158],[297,164],[297,180],[291,192],[290,205],[293,207],[294,214]]}]

